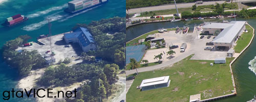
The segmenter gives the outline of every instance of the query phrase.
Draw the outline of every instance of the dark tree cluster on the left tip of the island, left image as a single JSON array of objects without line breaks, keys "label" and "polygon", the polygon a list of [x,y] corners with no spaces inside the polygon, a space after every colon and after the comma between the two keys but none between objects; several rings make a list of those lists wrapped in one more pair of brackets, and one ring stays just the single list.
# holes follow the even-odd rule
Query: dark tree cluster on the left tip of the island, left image
[{"label": "dark tree cluster on the left tip of the island, left image", "polygon": [[7,41],[3,46],[3,58],[6,63],[14,68],[17,68],[20,76],[24,77],[28,75],[31,69],[44,67],[46,61],[41,55],[38,54],[37,50],[20,50],[17,52],[18,47],[22,47],[23,44],[31,37],[28,35],[19,36],[14,40]]}]

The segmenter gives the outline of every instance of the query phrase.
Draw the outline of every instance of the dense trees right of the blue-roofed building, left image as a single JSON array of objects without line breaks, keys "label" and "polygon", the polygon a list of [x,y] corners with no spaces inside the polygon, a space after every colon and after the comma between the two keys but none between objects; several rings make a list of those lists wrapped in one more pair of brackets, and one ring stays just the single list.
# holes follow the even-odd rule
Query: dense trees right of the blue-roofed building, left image
[{"label": "dense trees right of the blue-roofed building, left image", "polygon": [[92,21],[90,24],[78,24],[78,27],[87,28],[93,35],[97,50],[94,56],[102,57],[103,60],[115,62],[124,66],[124,40],[125,40],[125,18],[114,17]]}]

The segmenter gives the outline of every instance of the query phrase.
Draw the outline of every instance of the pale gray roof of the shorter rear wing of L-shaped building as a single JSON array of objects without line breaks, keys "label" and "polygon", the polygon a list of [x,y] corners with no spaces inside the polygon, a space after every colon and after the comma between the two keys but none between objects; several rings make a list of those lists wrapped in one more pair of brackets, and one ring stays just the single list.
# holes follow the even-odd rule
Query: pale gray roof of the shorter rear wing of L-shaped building
[{"label": "pale gray roof of the shorter rear wing of L-shaped building", "polygon": [[232,23],[216,23],[216,22],[206,22],[202,28],[208,29],[225,29],[233,25]]}]

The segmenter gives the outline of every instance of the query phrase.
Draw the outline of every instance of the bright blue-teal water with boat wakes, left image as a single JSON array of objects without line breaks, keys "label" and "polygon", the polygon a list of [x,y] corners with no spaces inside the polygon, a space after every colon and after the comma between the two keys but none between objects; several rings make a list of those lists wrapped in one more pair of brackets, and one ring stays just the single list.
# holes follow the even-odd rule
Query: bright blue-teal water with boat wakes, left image
[{"label": "bright blue-teal water with boat wakes, left image", "polygon": [[[71,0],[6,0],[0,3],[0,23],[7,17],[15,14],[22,14],[29,17],[29,20],[7,28],[0,25],[0,47],[19,35],[29,35],[30,41],[36,41],[41,34],[48,34],[47,18],[52,19],[52,34],[69,32],[77,23],[90,23],[92,20],[125,16],[125,0],[110,0],[99,7],[89,9],[77,14],[63,12],[67,3]],[[3,50],[0,49],[0,101],[3,100],[2,92],[16,88],[20,79],[14,68],[8,66],[2,59]],[[35,101],[34,98],[10,98],[8,101]]]}]

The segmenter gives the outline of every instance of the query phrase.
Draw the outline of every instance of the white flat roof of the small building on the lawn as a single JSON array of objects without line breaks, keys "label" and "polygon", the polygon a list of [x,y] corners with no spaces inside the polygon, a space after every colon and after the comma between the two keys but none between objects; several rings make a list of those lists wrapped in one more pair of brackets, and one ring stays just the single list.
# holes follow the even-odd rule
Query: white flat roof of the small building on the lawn
[{"label": "white flat roof of the small building on the lawn", "polygon": [[168,81],[169,81],[169,76],[146,79],[141,82],[140,87],[168,83]]}]

